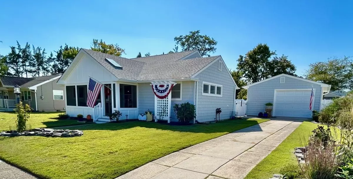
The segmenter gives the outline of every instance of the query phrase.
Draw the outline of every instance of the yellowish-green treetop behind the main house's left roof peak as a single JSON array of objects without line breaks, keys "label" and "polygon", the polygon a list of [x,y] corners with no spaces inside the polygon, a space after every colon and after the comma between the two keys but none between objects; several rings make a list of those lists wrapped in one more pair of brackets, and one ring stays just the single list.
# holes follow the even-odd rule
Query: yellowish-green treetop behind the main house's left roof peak
[{"label": "yellowish-green treetop behind the main house's left roof peak", "polygon": [[125,54],[125,50],[120,48],[118,44],[106,44],[102,39],[100,41],[98,41],[98,39],[93,39],[91,50],[115,56]]}]

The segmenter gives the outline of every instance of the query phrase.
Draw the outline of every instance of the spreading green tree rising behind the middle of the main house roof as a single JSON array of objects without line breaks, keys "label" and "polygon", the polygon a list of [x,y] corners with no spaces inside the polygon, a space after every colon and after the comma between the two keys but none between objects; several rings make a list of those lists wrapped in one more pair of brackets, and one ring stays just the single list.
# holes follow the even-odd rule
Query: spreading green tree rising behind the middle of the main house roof
[{"label": "spreading green tree rising behind the middle of the main house roof", "polygon": [[[198,50],[202,56],[210,56],[208,53],[215,53],[217,41],[207,36],[200,35],[200,31],[190,31],[185,36],[175,37],[176,47],[180,45],[182,51]],[[177,52],[178,49],[173,49]]]}]

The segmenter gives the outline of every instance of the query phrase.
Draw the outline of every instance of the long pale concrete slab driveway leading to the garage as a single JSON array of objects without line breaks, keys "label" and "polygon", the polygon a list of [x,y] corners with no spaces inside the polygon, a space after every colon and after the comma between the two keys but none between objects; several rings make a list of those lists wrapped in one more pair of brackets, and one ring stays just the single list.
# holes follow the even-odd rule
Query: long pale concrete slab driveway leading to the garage
[{"label": "long pale concrete slab driveway leading to the garage", "polygon": [[243,179],[300,124],[263,122],[166,155],[116,179]]}]

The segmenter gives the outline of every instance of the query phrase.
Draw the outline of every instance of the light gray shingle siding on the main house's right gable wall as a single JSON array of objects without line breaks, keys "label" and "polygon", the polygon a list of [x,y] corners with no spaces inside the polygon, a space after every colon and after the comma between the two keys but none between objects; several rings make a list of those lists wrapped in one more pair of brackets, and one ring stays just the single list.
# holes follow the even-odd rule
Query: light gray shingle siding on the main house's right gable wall
[{"label": "light gray shingle siding on the main house's right gable wall", "polygon": [[[199,122],[214,121],[216,108],[221,108],[222,110],[220,114],[221,120],[229,119],[232,116],[235,85],[223,63],[222,71],[218,70],[218,62],[216,61],[195,77],[199,79],[197,102],[197,120]],[[203,81],[222,85],[222,97],[202,95]]]}]

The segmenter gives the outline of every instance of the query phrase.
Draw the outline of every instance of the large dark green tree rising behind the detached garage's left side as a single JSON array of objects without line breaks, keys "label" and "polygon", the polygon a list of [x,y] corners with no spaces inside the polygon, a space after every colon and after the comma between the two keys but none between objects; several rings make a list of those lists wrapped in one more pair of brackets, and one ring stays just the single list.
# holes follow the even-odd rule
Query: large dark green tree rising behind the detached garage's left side
[{"label": "large dark green tree rising behind the detached garage's left side", "polygon": [[296,70],[287,56],[277,57],[275,51],[271,51],[267,44],[261,43],[248,51],[245,56],[239,55],[237,69],[243,73],[248,84],[282,73],[295,75]]}]

